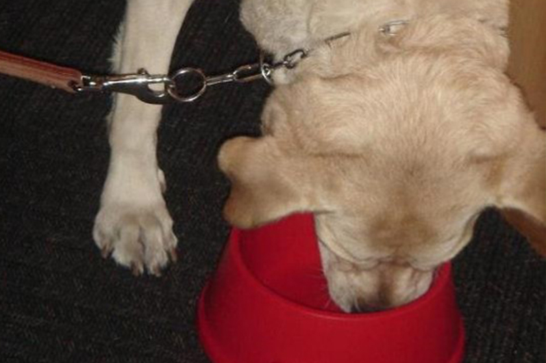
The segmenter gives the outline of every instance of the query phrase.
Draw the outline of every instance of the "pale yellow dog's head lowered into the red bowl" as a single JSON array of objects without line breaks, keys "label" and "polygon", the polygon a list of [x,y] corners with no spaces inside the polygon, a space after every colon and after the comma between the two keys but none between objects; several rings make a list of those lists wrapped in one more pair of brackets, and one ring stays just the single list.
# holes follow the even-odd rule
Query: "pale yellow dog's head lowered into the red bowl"
[{"label": "pale yellow dog's head lowered into the red bowl", "polygon": [[[545,134],[504,75],[504,40],[469,40],[465,29],[487,31],[474,22],[432,24],[379,44],[371,64],[345,44],[351,72],[309,70],[277,88],[264,136],[229,140],[219,154],[232,224],[315,214],[330,295],[346,311],[425,293],[488,206],[546,224]],[[335,56],[327,62],[339,69]]]}]

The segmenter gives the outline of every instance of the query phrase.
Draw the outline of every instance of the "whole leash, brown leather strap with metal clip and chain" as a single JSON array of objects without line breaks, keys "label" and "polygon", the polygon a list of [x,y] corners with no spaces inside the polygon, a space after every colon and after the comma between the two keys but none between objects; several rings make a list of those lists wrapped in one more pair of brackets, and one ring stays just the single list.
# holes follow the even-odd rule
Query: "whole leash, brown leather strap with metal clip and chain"
[{"label": "whole leash, brown leather strap with metal clip and chain", "polygon": [[[397,28],[407,23],[408,21],[404,20],[391,21],[378,30],[384,36],[394,36]],[[336,34],[323,42],[328,44],[349,35],[348,32]],[[86,75],[75,68],[57,66],[0,51],[0,74],[26,79],[73,94],[120,92],[136,96],[145,103],[164,105],[193,102],[203,96],[209,87],[223,83],[248,83],[263,79],[273,84],[275,70],[293,69],[302,59],[308,57],[309,53],[309,49],[296,49],[284,55],[280,62],[267,62],[265,55],[261,53],[260,61],[257,63],[239,66],[223,75],[208,76],[203,70],[193,67],[180,68],[171,75],[150,75],[144,68],[127,75]],[[188,89],[186,87],[188,84],[193,87]],[[163,90],[152,90],[151,85],[163,85]]]}]

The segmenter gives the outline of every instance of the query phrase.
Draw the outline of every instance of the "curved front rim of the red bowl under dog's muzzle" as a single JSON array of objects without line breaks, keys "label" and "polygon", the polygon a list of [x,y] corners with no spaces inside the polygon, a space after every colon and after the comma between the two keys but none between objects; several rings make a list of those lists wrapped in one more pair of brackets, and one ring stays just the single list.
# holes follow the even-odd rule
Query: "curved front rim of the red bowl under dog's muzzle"
[{"label": "curved front rim of the red bowl under dog's muzzle", "polygon": [[258,276],[256,276],[253,271],[248,267],[248,265],[245,263],[245,259],[243,258],[243,253],[240,250],[240,242],[243,237],[243,233],[245,233],[245,230],[240,230],[239,228],[233,227],[231,232],[229,233],[229,245],[231,247],[231,250],[233,252],[232,256],[234,258],[234,263],[236,266],[247,275],[249,280],[251,280],[251,283],[256,286],[256,288],[260,289],[260,291],[266,293],[269,295],[272,299],[275,301],[279,301],[284,306],[287,306],[288,308],[292,308],[295,310],[299,310],[299,312],[303,312],[309,315],[314,315],[326,319],[336,319],[336,320],[343,320],[343,321],[362,321],[362,320],[373,320],[373,319],[390,319],[399,317],[399,315],[404,314],[410,314],[414,310],[418,310],[419,308],[423,308],[423,306],[427,306],[428,304],[432,304],[432,301],[438,296],[438,294],[442,293],[442,291],[445,291],[446,285],[449,284],[450,278],[451,278],[451,262],[445,262],[442,265],[438,266],[436,270],[434,271],[434,282],[432,282],[432,285],[430,286],[429,290],[421,295],[421,297],[418,297],[414,301],[411,301],[408,304],[405,304],[403,306],[399,306],[397,308],[389,309],[389,310],[382,310],[378,312],[362,312],[362,313],[353,313],[349,314],[347,312],[333,312],[328,310],[321,310],[317,308],[312,308],[310,306],[306,306],[303,304],[299,304],[296,301],[293,301],[291,299],[288,299],[287,297],[284,297],[275,291],[273,291],[272,288],[264,284]]}]

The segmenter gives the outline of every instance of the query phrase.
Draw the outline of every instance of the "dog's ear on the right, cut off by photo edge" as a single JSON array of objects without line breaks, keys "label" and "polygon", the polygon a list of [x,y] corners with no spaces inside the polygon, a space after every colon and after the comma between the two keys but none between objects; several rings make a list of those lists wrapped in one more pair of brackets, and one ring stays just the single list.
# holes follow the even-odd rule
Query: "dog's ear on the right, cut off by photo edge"
[{"label": "dog's ear on the right, cut off by photo edge", "polygon": [[526,124],[524,137],[501,167],[497,206],[506,220],[546,256],[546,133]]}]

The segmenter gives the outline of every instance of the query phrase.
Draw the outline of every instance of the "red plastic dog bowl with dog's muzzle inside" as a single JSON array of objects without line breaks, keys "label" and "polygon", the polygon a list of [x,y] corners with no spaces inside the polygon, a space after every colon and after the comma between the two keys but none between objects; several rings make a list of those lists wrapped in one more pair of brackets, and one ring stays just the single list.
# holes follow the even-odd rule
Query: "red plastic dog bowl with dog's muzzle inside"
[{"label": "red plastic dog bowl with dog's muzzle inside", "polygon": [[464,351],[449,264],[406,306],[345,314],[328,297],[311,215],[234,229],[197,327],[214,363],[457,363]]}]

